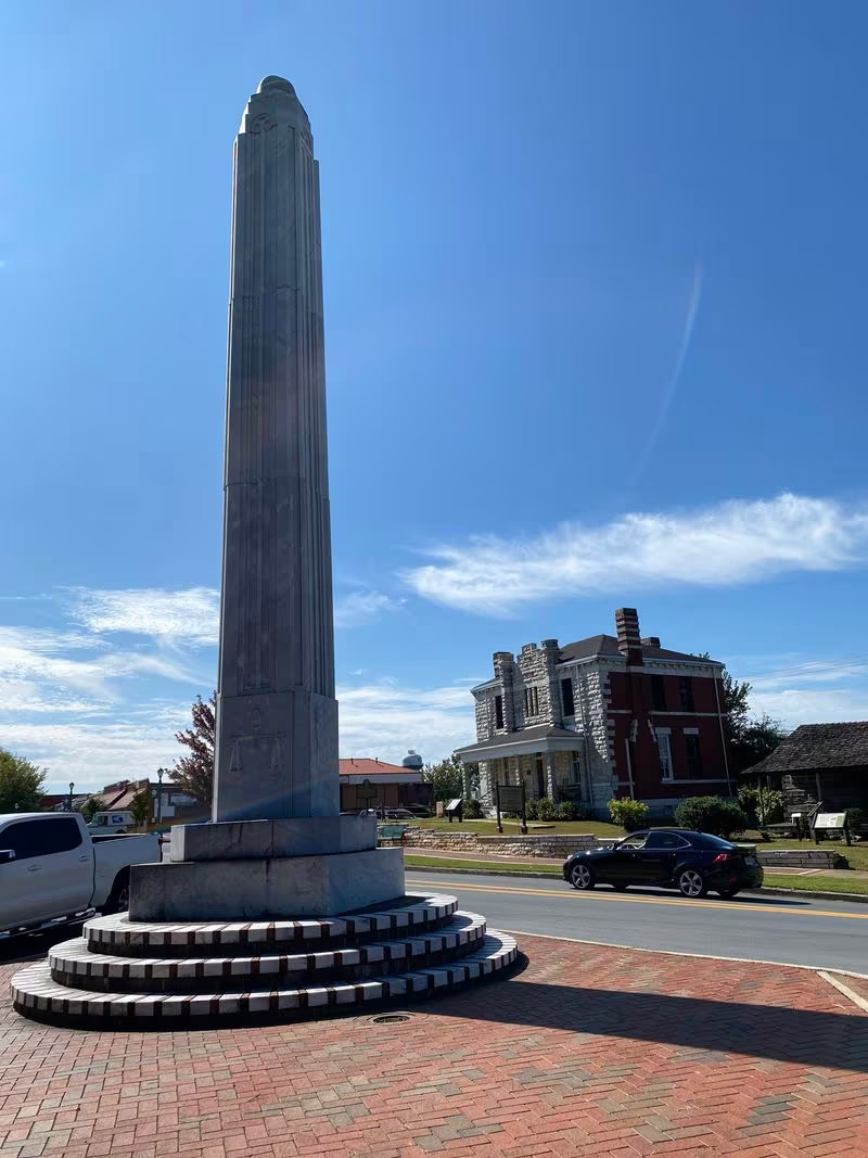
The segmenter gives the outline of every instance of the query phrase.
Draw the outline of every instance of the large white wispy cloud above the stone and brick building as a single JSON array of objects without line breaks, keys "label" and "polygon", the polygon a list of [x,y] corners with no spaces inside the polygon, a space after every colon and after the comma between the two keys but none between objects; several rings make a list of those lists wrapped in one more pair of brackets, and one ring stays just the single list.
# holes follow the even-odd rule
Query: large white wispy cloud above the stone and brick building
[{"label": "large white wispy cloud above the stone and brick building", "polygon": [[508,616],[544,599],[672,585],[733,586],[868,559],[868,506],[785,493],[674,513],[567,522],[527,538],[477,536],[403,578],[424,599]]}]

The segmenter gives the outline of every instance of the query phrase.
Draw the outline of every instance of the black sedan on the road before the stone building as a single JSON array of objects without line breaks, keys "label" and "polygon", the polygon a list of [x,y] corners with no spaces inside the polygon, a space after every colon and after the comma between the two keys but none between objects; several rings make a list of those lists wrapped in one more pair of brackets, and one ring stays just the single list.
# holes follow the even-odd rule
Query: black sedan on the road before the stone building
[{"label": "black sedan on the road before the stone building", "polygon": [[763,884],[763,867],[751,849],[740,849],[708,833],[684,828],[653,828],[631,833],[608,848],[574,852],[564,863],[564,880],[574,888],[611,885],[662,885],[684,896],[705,896],[711,889],[735,896],[741,888]]}]

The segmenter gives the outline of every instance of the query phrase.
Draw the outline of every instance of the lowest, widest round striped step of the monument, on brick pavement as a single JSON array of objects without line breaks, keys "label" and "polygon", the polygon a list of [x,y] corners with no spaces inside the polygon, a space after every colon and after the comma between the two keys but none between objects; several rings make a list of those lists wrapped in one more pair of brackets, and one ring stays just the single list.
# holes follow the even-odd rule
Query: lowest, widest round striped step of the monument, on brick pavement
[{"label": "lowest, widest round striped step of the monument, on brick pavement", "polygon": [[[491,932],[478,950],[458,961],[411,973],[372,977],[355,984],[336,983],[289,989],[250,989],[208,994],[118,994],[61,985],[51,976],[47,961],[29,965],[12,979],[12,998],[20,1013],[51,1020],[98,1024],[102,1028],[139,1028],[160,1023],[164,1028],[190,1019],[250,1017],[279,1020],[339,1007],[352,1012],[378,1002],[406,1001],[444,992],[466,982],[481,981],[512,965],[517,957],[513,937]],[[334,1009],[332,1009],[334,1011]]]}]

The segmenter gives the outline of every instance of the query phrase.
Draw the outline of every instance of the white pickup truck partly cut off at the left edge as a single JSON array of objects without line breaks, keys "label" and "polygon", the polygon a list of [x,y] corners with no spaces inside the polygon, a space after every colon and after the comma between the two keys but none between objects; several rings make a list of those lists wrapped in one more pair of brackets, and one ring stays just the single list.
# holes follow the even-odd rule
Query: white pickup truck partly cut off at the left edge
[{"label": "white pickup truck partly cut off at the left edge", "polygon": [[91,836],[79,812],[0,815],[0,939],[126,909],[130,865],[159,859],[156,834]]}]

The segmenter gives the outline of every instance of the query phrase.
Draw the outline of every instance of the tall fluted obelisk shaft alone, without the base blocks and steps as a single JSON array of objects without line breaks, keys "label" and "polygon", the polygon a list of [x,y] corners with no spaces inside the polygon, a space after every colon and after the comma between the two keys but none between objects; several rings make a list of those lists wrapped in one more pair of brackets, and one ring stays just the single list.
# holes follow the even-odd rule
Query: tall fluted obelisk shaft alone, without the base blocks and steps
[{"label": "tall fluted obelisk shaft alone, without the base blocks and steps", "polygon": [[334,816],[319,173],[293,86],[235,140],[214,820]]}]

